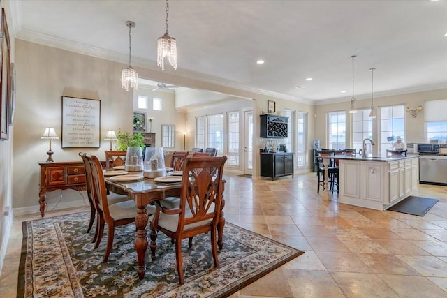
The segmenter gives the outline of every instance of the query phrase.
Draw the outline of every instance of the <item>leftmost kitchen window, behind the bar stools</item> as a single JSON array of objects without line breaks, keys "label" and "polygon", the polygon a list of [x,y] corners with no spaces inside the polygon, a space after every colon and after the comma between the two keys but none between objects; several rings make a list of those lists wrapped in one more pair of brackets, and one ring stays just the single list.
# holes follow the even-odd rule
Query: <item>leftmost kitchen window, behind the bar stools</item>
[{"label": "leftmost kitchen window, behind the bar stools", "polygon": [[346,112],[328,112],[328,144],[327,149],[343,149],[346,146]]}]

